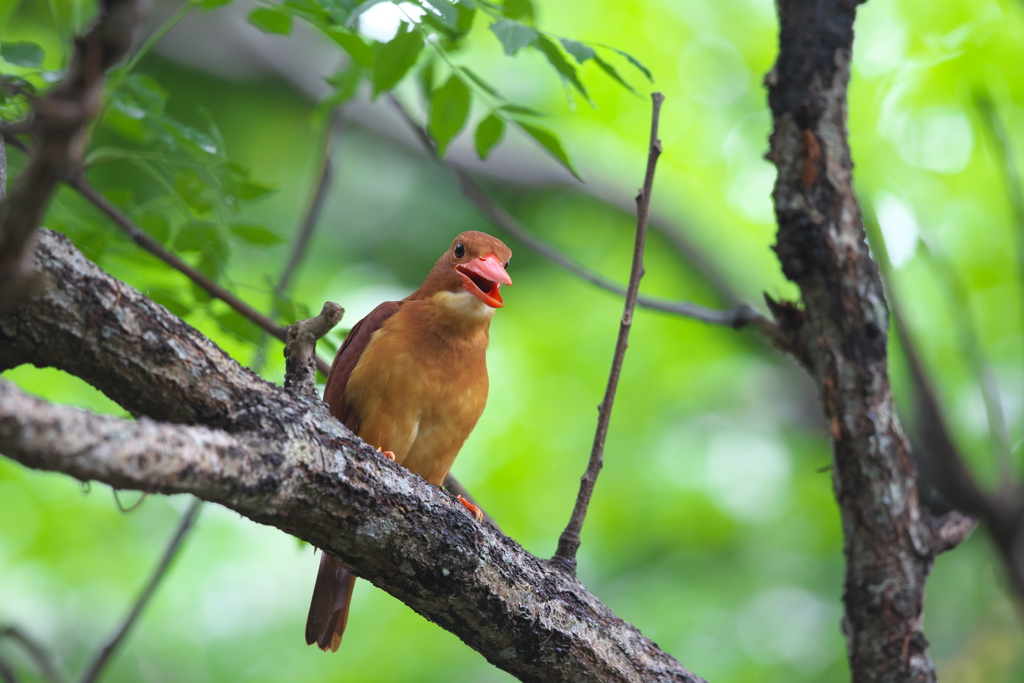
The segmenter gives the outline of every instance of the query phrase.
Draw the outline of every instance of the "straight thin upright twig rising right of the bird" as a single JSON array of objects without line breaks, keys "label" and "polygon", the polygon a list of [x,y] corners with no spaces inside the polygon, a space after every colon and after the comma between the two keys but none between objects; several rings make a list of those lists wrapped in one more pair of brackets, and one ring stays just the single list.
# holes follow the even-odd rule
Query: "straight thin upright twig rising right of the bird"
[{"label": "straight thin upright twig rising right of the bird", "polygon": [[626,291],[626,304],[623,318],[618,325],[618,339],[615,341],[615,353],[611,361],[611,372],[608,375],[608,386],[604,391],[604,399],[598,409],[597,430],[594,433],[594,446],[590,453],[587,471],[580,480],[580,494],[569,523],[558,539],[558,550],[552,558],[552,563],[561,569],[575,572],[575,555],[580,549],[580,531],[587,516],[591,496],[597,475],[604,464],[604,440],[608,434],[608,423],[611,420],[611,405],[615,400],[615,390],[618,388],[618,376],[623,370],[623,359],[626,357],[626,347],[629,345],[630,330],[633,327],[633,311],[637,305],[637,294],[640,291],[640,279],[643,278],[643,250],[647,239],[647,216],[650,212],[650,193],[654,185],[654,168],[662,155],[662,140],[657,137],[657,123],[662,112],[665,95],[659,92],[651,94],[653,103],[650,120],[650,145],[647,150],[647,172],[644,174],[643,188],[637,195],[637,233],[633,247],[633,264],[630,267],[630,284]]}]

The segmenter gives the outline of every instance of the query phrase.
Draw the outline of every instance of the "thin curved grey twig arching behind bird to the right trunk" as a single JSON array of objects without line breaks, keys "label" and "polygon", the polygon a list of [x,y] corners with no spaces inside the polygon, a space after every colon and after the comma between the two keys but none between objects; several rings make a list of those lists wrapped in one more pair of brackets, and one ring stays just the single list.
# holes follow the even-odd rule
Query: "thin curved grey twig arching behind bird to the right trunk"
[{"label": "thin curved grey twig arching behind bird to the right trunk", "polygon": [[[457,164],[453,164],[437,157],[434,142],[430,139],[426,130],[424,130],[423,127],[413,119],[396,97],[391,94],[388,94],[387,97],[388,101],[391,102],[391,104],[398,112],[398,115],[410,126],[417,139],[420,140],[420,143],[424,146],[427,153],[430,154],[430,156],[436,161],[445,164],[452,169],[462,186],[463,194],[467,197],[467,199],[475,204],[480,212],[489,218],[495,225],[502,228],[509,234],[512,234],[527,248],[534,250],[541,256],[544,256],[555,265],[568,270],[572,274],[583,279],[585,282],[595,285],[605,291],[612,292],[618,296],[626,296],[626,288],[580,265],[551,245],[535,236],[519,221],[509,215],[508,212],[498,206],[498,204],[487,196],[487,194],[479,186],[479,184],[477,184],[477,182],[472,178],[472,176],[469,175],[468,172],[466,172],[465,169]],[[703,323],[723,325],[734,329],[742,328],[751,323],[759,321],[766,323],[763,316],[748,304],[740,304],[731,310],[715,310],[698,306],[687,301],[666,301],[664,299],[648,296],[638,296],[637,304],[651,310],[673,313],[675,315],[683,315],[685,317],[701,321]]]}]

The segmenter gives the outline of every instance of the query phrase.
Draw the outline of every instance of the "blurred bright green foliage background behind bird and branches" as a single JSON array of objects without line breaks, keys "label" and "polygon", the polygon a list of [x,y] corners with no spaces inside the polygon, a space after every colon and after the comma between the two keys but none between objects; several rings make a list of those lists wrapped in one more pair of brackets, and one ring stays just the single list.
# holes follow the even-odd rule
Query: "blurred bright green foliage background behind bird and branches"
[{"label": "blurred bright green foliage background behind bird and branches", "polygon": [[[642,290],[723,305],[721,288],[680,255],[668,232],[693,245],[703,268],[721,273],[741,299],[761,305],[762,292],[795,297],[771,251],[774,169],[763,159],[770,117],[761,81],[776,53],[773,5],[536,4],[540,28],[629,51],[667,96],[652,205],[665,232],[650,237]],[[298,29],[289,38],[257,33],[258,42],[240,47],[230,37],[245,34],[248,7],[194,11],[137,71],[161,84],[168,113],[196,125],[212,117],[229,157],[250,168],[254,180],[275,186],[242,206],[238,217],[269,227],[280,244],[254,245],[229,233],[214,254],[221,281],[269,310],[323,148],[312,97],[323,87],[319,75],[341,53]],[[157,2],[151,30],[174,8]],[[0,28],[5,40],[44,46],[46,66],[55,69],[61,40],[93,11],[89,2],[5,0]],[[381,10],[376,30],[386,31],[389,20]],[[640,91],[635,96],[589,63],[582,74],[596,105],[570,106],[538,53],[505,56],[482,19],[453,58],[472,65],[511,100],[547,113],[543,125],[560,136],[586,183],[516,131],[482,166],[472,163],[466,133],[450,157],[478,170],[500,205],[536,234],[625,283],[650,84],[616,62]],[[234,62],[245,68],[231,71]],[[881,224],[897,266],[889,284],[907,310],[958,442],[990,481],[992,439],[959,330],[973,325],[980,336],[1019,465],[1018,238],[1002,152],[977,100],[993,101],[1010,151],[1024,163],[1024,3],[871,0],[858,13],[853,65],[850,141],[864,212]],[[415,82],[397,94],[422,118]],[[330,197],[291,301],[300,314],[302,306],[317,310],[324,300],[337,301],[347,309],[342,327],[348,327],[380,301],[415,289],[460,230],[504,239],[515,253],[515,286],[492,327],[487,409],[454,473],[505,532],[549,556],[590,451],[622,302],[489,225],[383,100],[370,103],[364,93],[350,110],[333,155]],[[485,114],[474,111],[474,118]],[[104,127],[93,143],[94,151],[138,146]],[[12,170],[24,161],[16,151],[8,157]],[[100,158],[90,178],[138,219],[165,216],[168,244],[187,248],[175,230],[189,210],[168,199],[137,160]],[[150,225],[163,229],[157,223]],[[258,334],[223,304],[197,297],[182,276],[69,190],[59,193],[47,225],[69,232],[108,271],[184,313],[240,362],[259,357]],[[209,254],[191,249],[188,257]],[[953,301],[950,272],[967,305]],[[321,353],[330,355],[330,343],[341,337],[333,333]],[[265,346],[262,374],[281,382],[281,345]],[[895,391],[904,399],[902,356],[891,346]],[[4,377],[57,402],[123,414],[59,372],[23,367]],[[584,529],[584,584],[709,681],[848,680],[840,632],[842,538],[820,415],[809,381],[755,333],[638,312]],[[136,498],[122,494],[125,503]],[[154,497],[125,514],[106,486],[83,488],[0,459],[0,623],[31,633],[77,676],[120,623],[186,504]],[[205,507],[104,680],[511,680],[365,581],[341,650],[328,655],[305,646],[316,564],[312,549],[293,538]],[[1021,622],[983,532],[939,557],[928,584],[925,632],[943,680],[1024,680]],[[42,680],[15,644],[0,642],[0,655],[23,680]]]}]

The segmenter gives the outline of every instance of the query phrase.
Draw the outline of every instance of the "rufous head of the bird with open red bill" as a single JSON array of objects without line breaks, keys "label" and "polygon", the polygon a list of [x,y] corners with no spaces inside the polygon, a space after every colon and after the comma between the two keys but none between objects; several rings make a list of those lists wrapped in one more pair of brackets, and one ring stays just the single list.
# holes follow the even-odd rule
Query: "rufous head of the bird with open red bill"
[{"label": "rufous head of the bird with open red bill", "polygon": [[461,233],[437,259],[423,286],[411,299],[427,299],[438,292],[469,292],[490,308],[501,308],[501,286],[512,285],[507,271],[512,250],[486,232]]}]

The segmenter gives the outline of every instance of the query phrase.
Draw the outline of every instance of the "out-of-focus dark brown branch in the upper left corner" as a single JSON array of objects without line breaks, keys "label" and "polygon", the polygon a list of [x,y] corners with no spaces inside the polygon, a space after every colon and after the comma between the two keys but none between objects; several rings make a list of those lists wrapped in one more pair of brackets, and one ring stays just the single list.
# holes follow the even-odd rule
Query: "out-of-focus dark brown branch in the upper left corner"
[{"label": "out-of-focus dark brown branch in the upper left corner", "polygon": [[67,75],[33,103],[34,153],[0,204],[0,302],[25,289],[32,236],[61,175],[82,164],[89,122],[102,106],[105,71],[128,51],[139,19],[135,0],[100,2],[96,23],[75,42]]}]

